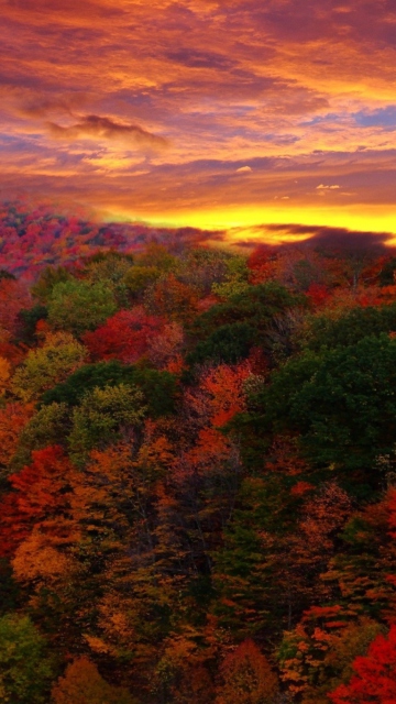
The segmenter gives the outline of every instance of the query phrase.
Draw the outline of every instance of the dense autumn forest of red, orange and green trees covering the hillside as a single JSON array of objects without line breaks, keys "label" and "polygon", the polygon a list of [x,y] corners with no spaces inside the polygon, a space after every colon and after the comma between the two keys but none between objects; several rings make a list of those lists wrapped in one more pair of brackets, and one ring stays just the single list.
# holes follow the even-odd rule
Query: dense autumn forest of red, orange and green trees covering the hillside
[{"label": "dense autumn forest of red, orange and green trees covering the hillside", "polygon": [[1,702],[394,704],[395,253],[2,208]]}]

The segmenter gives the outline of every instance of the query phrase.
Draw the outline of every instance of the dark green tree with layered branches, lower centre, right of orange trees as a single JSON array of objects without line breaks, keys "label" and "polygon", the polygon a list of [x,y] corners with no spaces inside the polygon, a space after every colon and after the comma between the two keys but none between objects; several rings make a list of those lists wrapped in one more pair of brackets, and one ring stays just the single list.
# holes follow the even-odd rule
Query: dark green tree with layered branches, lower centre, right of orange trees
[{"label": "dark green tree with layered branches, lower centre, right of orange trees", "polygon": [[[274,553],[276,541],[283,544],[287,531],[295,530],[296,501],[290,501],[288,484],[277,475],[245,479],[223,544],[213,556],[215,613],[239,638],[267,629],[279,632],[287,623],[287,590],[283,584],[279,594]],[[267,551],[264,535],[271,537]]]}]

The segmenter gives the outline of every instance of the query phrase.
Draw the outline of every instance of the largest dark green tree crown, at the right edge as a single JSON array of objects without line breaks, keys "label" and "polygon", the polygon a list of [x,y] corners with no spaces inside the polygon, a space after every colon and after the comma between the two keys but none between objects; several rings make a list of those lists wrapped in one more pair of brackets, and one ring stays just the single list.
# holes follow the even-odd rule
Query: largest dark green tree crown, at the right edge
[{"label": "largest dark green tree crown, at the right edge", "polygon": [[396,437],[396,342],[386,336],[307,352],[287,362],[254,399],[254,428],[298,432],[304,453],[329,470],[364,470],[378,487],[378,454]]}]

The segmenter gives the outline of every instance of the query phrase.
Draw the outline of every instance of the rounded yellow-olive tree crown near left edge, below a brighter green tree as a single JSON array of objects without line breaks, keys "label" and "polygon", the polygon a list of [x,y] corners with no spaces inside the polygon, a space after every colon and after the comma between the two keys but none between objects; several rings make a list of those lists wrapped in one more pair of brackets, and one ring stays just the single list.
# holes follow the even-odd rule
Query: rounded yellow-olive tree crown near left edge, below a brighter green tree
[{"label": "rounded yellow-olive tree crown near left edge, below a brighter green tree", "polygon": [[46,389],[67,378],[84,364],[86,348],[69,332],[50,334],[42,348],[30,350],[16,370],[12,387],[24,402],[34,400]]}]

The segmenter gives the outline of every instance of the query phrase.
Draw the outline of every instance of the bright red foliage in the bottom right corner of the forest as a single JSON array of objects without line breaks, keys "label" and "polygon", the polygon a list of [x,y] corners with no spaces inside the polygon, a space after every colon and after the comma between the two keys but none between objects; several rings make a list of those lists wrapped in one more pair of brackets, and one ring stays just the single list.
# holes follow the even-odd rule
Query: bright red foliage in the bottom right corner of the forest
[{"label": "bright red foliage in the bottom right corner of the forest", "polygon": [[395,704],[396,625],[388,636],[377,636],[365,657],[352,664],[355,674],[328,696],[333,704]]}]

